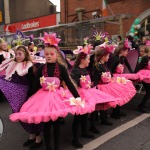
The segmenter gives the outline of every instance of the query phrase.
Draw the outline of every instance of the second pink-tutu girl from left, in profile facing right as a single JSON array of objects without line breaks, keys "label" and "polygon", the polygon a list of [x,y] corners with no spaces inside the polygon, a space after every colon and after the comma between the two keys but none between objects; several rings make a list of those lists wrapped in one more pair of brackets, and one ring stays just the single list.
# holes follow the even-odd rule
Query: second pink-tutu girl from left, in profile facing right
[{"label": "second pink-tutu girl from left, in profile facing right", "polygon": [[[78,91],[79,91],[81,98],[85,99],[85,101],[88,103],[95,103],[94,101],[96,101],[96,103],[99,105],[101,104],[103,105],[107,102],[111,103],[111,101],[115,100],[113,96],[110,96],[95,88],[91,88],[92,84],[91,84],[90,75],[86,69],[86,67],[88,67],[89,62],[90,62],[89,52],[90,52],[91,46],[86,45],[84,47],[78,47],[78,48],[79,48],[78,50],[75,50],[76,53],[78,51],[78,56],[76,58],[71,75],[78,86]],[[73,130],[72,145],[75,146],[76,148],[83,147],[82,144],[78,141],[78,134],[79,134],[78,128],[79,128],[80,122],[81,122],[81,127],[82,127],[82,137],[85,137],[85,138],[94,137],[93,135],[87,133],[87,129],[86,129],[87,116],[88,114],[74,116],[73,125],[72,125],[72,130]],[[91,118],[91,120],[93,122],[91,122],[90,130],[98,132],[94,123],[95,118]]]}]

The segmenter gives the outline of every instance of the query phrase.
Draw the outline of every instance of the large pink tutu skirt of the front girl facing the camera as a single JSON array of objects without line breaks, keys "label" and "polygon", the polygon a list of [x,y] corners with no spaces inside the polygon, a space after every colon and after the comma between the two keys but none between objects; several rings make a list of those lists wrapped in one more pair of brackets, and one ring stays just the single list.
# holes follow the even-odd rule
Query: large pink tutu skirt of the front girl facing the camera
[{"label": "large pink tutu skirt of the front girl facing the camera", "polygon": [[10,115],[10,120],[39,124],[49,120],[55,121],[59,117],[64,118],[68,113],[85,114],[94,110],[95,103],[85,102],[84,107],[71,105],[71,97],[73,96],[69,90],[63,88],[57,89],[56,92],[40,89],[23,104],[20,112]]}]

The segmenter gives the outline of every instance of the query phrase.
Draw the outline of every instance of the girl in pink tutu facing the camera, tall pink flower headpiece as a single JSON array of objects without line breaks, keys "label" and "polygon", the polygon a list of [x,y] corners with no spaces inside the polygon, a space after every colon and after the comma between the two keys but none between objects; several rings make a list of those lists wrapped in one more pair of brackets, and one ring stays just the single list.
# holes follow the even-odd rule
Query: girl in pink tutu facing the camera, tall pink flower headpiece
[{"label": "girl in pink tutu facing the camera, tall pink flower headpiece", "polygon": [[[20,113],[10,116],[12,121],[22,120],[28,123],[44,122],[44,139],[46,150],[51,149],[51,128],[53,126],[54,149],[60,149],[60,118],[66,117],[68,112],[86,113],[87,110],[94,110],[93,105],[86,105],[86,102],[79,98],[79,94],[71,82],[68,72],[59,57],[58,42],[56,34],[44,34],[42,40],[45,42],[46,64],[40,66],[37,71],[34,92],[36,92],[21,108]],[[65,82],[69,91],[63,90],[60,85]],[[70,98],[70,100],[69,100]],[[69,102],[69,104],[68,104]],[[85,106],[85,108],[84,108]],[[85,112],[84,112],[85,111]]]}]

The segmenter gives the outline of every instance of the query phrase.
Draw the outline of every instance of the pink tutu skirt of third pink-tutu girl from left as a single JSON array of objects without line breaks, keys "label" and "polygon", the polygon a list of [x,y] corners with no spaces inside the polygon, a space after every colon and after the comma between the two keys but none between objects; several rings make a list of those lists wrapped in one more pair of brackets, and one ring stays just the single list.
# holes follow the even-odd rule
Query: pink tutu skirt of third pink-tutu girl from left
[{"label": "pink tutu skirt of third pink-tutu girl from left", "polygon": [[128,103],[132,97],[136,94],[136,89],[131,81],[127,81],[126,84],[111,82],[108,84],[99,84],[98,89],[119,98],[114,102],[111,102],[111,107],[115,108],[116,105],[122,106]]}]

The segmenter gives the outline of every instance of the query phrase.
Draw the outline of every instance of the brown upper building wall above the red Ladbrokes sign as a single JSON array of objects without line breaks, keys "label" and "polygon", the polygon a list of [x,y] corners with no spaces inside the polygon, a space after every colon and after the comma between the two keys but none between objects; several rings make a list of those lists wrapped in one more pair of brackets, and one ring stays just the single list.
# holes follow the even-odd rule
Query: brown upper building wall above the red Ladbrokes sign
[{"label": "brown upper building wall above the red Ladbrokes sign", "polygon": [[49,0],[9,0],[10,23],[56,13]]}]

